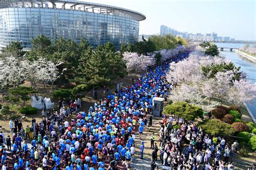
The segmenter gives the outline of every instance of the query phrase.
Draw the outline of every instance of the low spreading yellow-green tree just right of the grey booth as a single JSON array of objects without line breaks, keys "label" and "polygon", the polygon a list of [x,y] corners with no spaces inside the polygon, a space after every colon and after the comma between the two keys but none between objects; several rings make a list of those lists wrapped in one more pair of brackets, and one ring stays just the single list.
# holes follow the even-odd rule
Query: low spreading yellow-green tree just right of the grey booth
[{"label": "low spreading yellow-green tree just right of the grey booth", "polygon": [[194,121],[197,117],[203,116],[203,109],[198,105],[192,105],[187,102],[176,102],[167,105],[164,108],[164,113],[180,116],[187,121]]}]

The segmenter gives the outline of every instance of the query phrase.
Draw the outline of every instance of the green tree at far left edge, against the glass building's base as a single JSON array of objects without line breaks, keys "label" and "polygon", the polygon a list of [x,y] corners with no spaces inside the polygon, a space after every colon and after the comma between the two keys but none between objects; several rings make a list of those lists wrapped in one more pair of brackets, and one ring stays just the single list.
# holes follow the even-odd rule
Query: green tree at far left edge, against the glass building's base
[{"label": "green tree at far left edge, against the glass building's base", "polygon": [[7,45],[5,48],[2,49],[2,56],[14,56],[15,58],[19,58],[25,54],[24,51],[22,51],[23,46],[17,42],[12,41],[11,44]]}]

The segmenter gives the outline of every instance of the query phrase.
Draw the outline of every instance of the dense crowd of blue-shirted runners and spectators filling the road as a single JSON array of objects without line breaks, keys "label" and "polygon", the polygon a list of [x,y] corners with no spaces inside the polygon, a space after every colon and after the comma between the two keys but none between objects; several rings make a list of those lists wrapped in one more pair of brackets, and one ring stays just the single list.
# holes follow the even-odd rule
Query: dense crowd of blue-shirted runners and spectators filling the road
[{"label": "dense crowd of blue-shirted runners and spectators filling the road", "polygon": [[[190,52],[186,49],[171,61],[187,58]],[[78,98],[59,101],[59,110],[43,110],[42,119],[33,118],[26,127],[18,119],[10,121],[12,136],[0,134],[2,169],[131,169],[136,152],[143,159],[142,136],[145,126],[152,126],[152,98],[167,100],[172,88],[165,77],[171,61],[132,79],[130,86],[107,93],[89,110],[80,109]],[[176,117],[181,129],[172,129],[173,121],[163,116],[160,144],[155,134],[149,137],[152,169],[157,167],[157,158],[173,169],[224,169],[225,163],[232,169],[228,158],[233,157],[237,143],[228,145],[221,137],[208,136],[182,118]],[[134,140],[141,140],[140,145]]]}]

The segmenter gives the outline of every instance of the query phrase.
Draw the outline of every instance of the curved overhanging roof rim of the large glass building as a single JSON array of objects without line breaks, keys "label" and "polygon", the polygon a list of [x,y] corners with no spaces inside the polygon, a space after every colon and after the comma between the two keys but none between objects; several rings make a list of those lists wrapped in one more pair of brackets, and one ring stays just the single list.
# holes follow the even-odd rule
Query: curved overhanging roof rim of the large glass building
[{"label": "curved overhanging roof rim of the large glass building", "polygon": [[[56,5],[58,4],[58,5]],[[59,4],[61,8],[57,8]],[[91,2],[77,1],[77,0],[0,0],[1,8],[51,8],[63,10],[79,10],[94,13],[103,13],[105,15],[114,15],[120,17],[131,18],[137,21],[145,20],[146,16],[142,13],[119,8],[111,5],[97,4]]]}]

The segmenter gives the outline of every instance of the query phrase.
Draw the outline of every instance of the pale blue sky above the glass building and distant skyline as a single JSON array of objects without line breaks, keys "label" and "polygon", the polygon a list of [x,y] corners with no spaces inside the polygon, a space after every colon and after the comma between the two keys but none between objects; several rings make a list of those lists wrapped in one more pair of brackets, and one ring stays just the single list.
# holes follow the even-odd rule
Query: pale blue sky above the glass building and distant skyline
[{"label": "pale blue sky above the glass building and distant skyline", "polygon": [[256,40],[255,0],[86,0],[143,13],[140,34],[157,34],[160,25],[191,33],[217,32],[239,40]]}]

